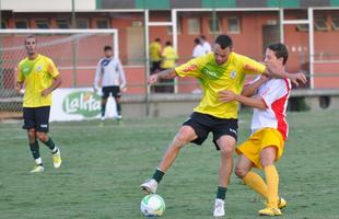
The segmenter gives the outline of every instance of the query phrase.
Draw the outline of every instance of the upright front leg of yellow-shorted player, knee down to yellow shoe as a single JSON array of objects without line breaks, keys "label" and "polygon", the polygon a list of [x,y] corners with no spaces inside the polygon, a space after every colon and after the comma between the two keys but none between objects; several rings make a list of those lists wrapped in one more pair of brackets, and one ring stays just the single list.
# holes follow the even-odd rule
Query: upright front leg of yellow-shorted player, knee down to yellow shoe
[{"label": "upright front leg of yellow-shorted player, knee down to yellow shoe", "polygon": [[274,166],[277,155],[276,146],[267,146],[260,152],[260,162],[264,168],[267,183],[267,208],[259,211],[262,216],[279,216],[281,215],[278,196],[279,174]]}]

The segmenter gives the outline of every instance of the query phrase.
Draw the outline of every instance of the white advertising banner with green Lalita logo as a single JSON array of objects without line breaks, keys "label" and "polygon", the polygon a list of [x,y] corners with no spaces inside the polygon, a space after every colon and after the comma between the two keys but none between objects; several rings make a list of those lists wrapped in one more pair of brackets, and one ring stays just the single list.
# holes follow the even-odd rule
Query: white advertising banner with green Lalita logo
[{"label": "white advertising banner with green Lalita logo", "polygon": [[[105,117],[116,116],[116,104],[108,97]],[[101,118],[101,93],[93,88],[57,89],[52,92],[50,122],[84,120]]]}]

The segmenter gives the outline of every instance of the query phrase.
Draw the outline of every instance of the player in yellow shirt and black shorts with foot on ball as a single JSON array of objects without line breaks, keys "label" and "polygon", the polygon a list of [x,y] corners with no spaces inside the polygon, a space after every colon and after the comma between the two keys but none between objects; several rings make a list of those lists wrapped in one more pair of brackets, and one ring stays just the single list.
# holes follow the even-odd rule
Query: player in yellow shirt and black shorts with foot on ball
[{"label": "player in yellow shirt and black shorts with foot on ball", "polygon": [[213,216],[222,217],[225,215],[224,200],[232,173],[232,155],[237,139],[238,104],[237,102],[220,102],[219,94],[224,90],[241,93],[247,73],[288,77],[295,83],[297,80],[306,81],[303,73],[290,74],[282,69],[267,68],[255,60],[235,54],[232,51],[232,39],[227,35],[218,36],[213,53],[195,58],[177,68],[150,76],[148,80],[150,84],[155,83],[159,79],[173,79],[177,76],[198,78],[202,84],[203,96],[195,112],[183,124],[170,143],[152,178],[140,185],[141,189],[147,193],[155,193],[157,184],[174,163],[180,149],[188,142],[201,145],[209,132],[213,132],[213,142],[221,152],[219,186]]}]

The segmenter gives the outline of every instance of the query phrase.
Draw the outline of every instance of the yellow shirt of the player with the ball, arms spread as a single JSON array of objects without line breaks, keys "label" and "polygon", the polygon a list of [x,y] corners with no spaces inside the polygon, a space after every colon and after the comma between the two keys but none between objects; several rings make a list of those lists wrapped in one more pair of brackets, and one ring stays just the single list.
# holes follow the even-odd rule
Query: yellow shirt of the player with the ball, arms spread
[{"label": "yellow shirt of the player with the ball, arms spread", "polygon": [[229,60],[219,66],[213,53],[210,53],[175,68],[175,71],[179,77],[196,77],[202,84],[203,96],[195,112],[219,118],[237,118],[238,103],[236,101],[220,102],[219,92],[231,90],[239,94],[245,74],[262,73],[265,69],[264,65],[235,53],[231,53]]}]

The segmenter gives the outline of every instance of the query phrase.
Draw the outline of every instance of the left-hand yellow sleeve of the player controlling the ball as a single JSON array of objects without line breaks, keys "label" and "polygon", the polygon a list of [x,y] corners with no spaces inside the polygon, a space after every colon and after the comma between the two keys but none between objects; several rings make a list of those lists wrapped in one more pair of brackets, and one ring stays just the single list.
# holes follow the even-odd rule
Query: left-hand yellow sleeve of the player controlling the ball
[{"label": "left-hand yellow sleeve of the player controlling the ball", "polygon": [[200,78],[201,77],[201,67],[203,62],[202,57],[198,57],[195,59],[191,59],[190,61],[183,64],[178,67],[175,68],[176,74],[179,77],[195,77],[195,78]]}]

